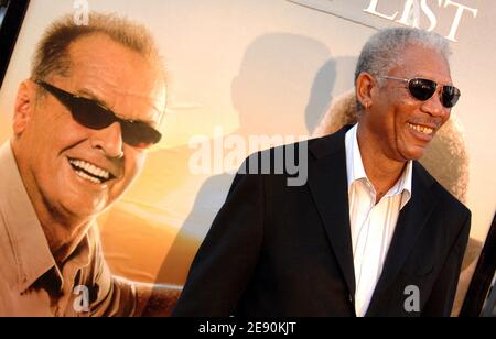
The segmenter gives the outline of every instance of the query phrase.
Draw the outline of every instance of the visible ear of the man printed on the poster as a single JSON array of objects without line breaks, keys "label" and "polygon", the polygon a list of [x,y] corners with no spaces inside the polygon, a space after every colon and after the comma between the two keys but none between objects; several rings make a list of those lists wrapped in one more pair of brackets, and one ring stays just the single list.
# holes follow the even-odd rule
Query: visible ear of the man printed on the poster
[{"label": "visible ear of the man printed on the poster", "polygon": [[24,132],[33,117],[36,103],[36,89],[34,86],[34,83],[29,79],[19,85],[13,116],[13,132],[15,135]]}]

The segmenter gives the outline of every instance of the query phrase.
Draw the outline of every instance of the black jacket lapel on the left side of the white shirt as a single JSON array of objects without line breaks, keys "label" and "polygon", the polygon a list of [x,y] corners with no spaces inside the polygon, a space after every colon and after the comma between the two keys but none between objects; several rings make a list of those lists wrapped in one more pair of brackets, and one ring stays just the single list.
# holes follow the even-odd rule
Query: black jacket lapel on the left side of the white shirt
[{"label": "black jacket lapel on the left side of the white shirt", "polygon": [[309,163],[309,187],[348,291],[355,295],[344,143],[349,128],[346,127],[333,135],[320,139],[310,146],[316,160]]}]

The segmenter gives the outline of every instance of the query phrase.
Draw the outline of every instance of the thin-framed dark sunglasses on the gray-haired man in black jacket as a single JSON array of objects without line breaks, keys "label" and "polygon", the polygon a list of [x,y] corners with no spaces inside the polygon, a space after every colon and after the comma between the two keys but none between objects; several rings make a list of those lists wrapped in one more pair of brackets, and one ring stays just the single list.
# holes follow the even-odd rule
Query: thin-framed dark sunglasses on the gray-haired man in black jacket
[{"label": "thin-framed dark sunglasses on the gray-haired man in black jacket", "polygon": [[[408,84],[408,90],[410,91],[411,96],[420,101],[427,101],[432,98],[432,96],[438,90],[438,86],[440,86],[434,80],[423,78],[403,79],[390,76],[379,76],[379,78],[398,80]],[[452,108],[460,99],[460,89],[451,85],[444,85],[442,88],[441,103],[445,108]]]}]

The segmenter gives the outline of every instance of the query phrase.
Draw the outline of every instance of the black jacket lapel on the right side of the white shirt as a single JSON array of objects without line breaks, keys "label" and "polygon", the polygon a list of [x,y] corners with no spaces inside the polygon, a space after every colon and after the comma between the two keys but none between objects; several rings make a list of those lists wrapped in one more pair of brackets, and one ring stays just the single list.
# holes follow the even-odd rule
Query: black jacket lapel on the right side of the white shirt
[{"label": "black jacket lapel on the right side of the white shirt", "polygon": [[419,163],[414,162],[411,199],[398,217],[395,234],[384,263],[382,273],[370,300],[367,316],[380,310],[377,309],[377,305],[374,303],[377,295],[386,292],[396,280],[413,249],[417,238],[420,236],[434,210],[438,200],[430,190],[432,183],[432,177],[427,174],[425,170]]}]

